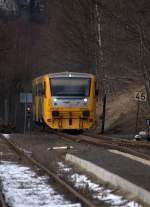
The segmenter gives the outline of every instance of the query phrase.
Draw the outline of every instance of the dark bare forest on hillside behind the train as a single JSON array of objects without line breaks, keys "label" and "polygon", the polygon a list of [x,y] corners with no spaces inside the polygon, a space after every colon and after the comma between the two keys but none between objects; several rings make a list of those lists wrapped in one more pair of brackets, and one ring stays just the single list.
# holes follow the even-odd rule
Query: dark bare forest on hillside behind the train
[{"label": "dark bare forest on hillside behind the train", "polygon": [[100,94],[141,80],[150,99],[148,0],[18,0],[12,10],[8,2],[0,7],[0,117],[8,100],[13,122],[19,93],[51,72],[94,73]]}]

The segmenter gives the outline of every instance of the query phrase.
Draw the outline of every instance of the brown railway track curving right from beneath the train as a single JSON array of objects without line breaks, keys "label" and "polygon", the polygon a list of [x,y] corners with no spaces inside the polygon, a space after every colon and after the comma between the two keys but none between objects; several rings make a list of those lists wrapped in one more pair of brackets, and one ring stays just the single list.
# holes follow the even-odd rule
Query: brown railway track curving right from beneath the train
[{"label": "brown railway track curving right from beneath the train", "polygon": [[133,148],[150,149],[150,144],[145,142],[137,143],[135,141],[128,141],[128,140],[126,141],[123,139],[112,138],[107,136],[91,135],[89,133],[78,135],[78,136],[60,133],[60,132],[55,132],[55,133],[63,139],[72,140],[76,142],[87,142],[104,148],[115,149],[121,152],[129,153],[145,160],[150,160],[150,155],[143,152],[141,153],[136,149],[133,149]]}]

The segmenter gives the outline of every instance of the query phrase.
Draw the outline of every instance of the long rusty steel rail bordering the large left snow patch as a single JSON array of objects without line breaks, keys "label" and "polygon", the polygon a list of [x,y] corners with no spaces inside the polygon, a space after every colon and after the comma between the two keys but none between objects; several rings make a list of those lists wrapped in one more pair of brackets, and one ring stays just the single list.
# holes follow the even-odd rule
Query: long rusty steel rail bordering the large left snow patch
[{"label": "long rusty steel rail bordering the large left snow patch", "polygon": [[69,184],[67,184],[64,180],[62,180],[59,176],[54,174],[54,172],[48,170],[46,167],[44,167],[41,163],[36,161],[35,159],[31,158],[29,155],[27,155],[23,150],[18,148],[13,142],[3,137],[3,139],[8,143],[8,145],[19,155],[24,156],[28,161],[30,161],[32,164],[35,164],[37,167],[42,169],[47,175],[51,176],[53,179],[55,179],[59,184],[61,184],[63,187],[65,187],[70,193],[72,193],[75,197],[77,197],[82,203],[86,204],[86,206],[89,207],[96,207],[90,200],[85,198],[83,195],[81,195],[79,192],[77,192],[73,187],[71,187]]}]

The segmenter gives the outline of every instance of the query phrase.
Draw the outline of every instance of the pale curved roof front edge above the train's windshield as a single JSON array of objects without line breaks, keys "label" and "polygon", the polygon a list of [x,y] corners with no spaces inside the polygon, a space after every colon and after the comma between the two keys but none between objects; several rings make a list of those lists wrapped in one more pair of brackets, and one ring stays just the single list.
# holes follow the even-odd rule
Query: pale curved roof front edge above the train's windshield
[{"label": "pale curved roof front edge above the train's windshield", "polygon": [[92,78],[93,75],[89,73],[77,73],[77,72],[61,72],[61,73],[50,73],[48,74],[50,78],[59,77],[82,77],[82,78]]}]

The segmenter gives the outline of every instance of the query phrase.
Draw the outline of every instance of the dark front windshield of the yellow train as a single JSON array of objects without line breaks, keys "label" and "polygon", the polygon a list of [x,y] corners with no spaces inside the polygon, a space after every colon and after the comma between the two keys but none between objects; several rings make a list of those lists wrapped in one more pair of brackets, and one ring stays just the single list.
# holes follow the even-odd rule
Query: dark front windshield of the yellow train
[{"label": "dark front windshield of the yellow train", "polygon": [[88,97],[90,95],[90,78],[52,78],[52,96]]}]

